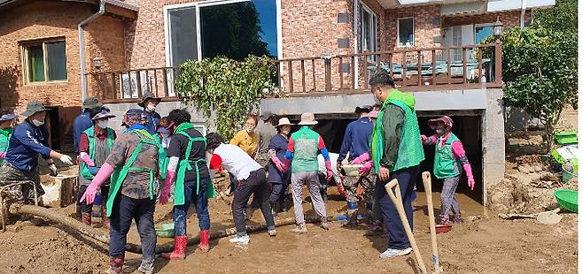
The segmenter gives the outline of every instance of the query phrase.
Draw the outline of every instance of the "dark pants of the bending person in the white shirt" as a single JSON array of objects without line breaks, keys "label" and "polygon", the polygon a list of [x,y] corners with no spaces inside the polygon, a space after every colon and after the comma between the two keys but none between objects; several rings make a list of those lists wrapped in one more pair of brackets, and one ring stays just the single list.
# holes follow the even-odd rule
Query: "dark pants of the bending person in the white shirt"
[{"label": "dark pants of the bending person in the white shirt", "polygon": [[245,205],[247,204],[249,197],[251,197],[251,194],[255,197],[253,200],[256,199],[257,203],[260,205],[261,213],[263,213],[265,222],[268,225],[268,230],[276,229],[273,215],[271,215],[271,209],[269,208],[267,178],[265,176],[265,170],[261,168],[257,171],[251,172],[249,178],[241,180],[237,184],[235,196],[231,203],[233,220],[235,221],[235,227],[237,228],[237,236],[245,236],[247,234],[243,210],[245,209]]}]

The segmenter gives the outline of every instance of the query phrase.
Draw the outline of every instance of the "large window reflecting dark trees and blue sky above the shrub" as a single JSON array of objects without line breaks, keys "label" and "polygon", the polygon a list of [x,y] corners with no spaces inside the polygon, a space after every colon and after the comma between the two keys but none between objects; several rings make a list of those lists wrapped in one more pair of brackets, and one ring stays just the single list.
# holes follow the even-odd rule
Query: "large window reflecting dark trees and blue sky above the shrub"
[{"label": "large window reflecting dark trees and blue sky above the shrub", "polygon": [[171,66],[205,57],[278,55],[276,0],[177,4],[165,10]]}]

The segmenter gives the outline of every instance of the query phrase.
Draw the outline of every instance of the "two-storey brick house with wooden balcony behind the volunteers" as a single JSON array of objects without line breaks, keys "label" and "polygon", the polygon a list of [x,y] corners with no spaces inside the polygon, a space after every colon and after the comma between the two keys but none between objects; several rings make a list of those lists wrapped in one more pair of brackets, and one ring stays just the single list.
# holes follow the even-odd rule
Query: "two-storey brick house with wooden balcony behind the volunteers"
[{"label": "two-storey brick house with wooden balcony behind the volunteers", "polygon": [[[98,95],[120,114],[150,90],[164,97],[159,106],[164,115],[181,106],[172,81],[175,67],[186,59],[263,52],[278,59],[284,97],[262,100],[260,110],[292,119],[315,112],[323,121],[319,130],[334,151],[354,118],[354,107],[373,103],[366,81],[369,72],[383,67],[393,73],[400,89],[416,96],[422,131],[427,133],[424,124],[429,117],[442,113],[454,117],[472,164],[484,171],[476,176],[483,190],[481,200],[487,183],[503,176],[504,116],[501,57],[482,56],[484,49],[494,52],[494,44],[476,44],[493,34],[497,20],[503,27],[525,26],[532,9],[554,4],[554,0],[0,0],[0,107],[22,110],[31,99],[61,109],[74,106],[76,112],[56,114],[59,124],[70,125],[83,96]],[[98,12],[101,6],[103,14]],[[82,30],[81,59],[78,25],[96,13]],[[258,26],[261,32],[245,32]],[[258,39],[257,48],[243,49]],[[32,73],[30,63],[35,60],[30,52],[38,51],[51,62],[56,54],[51,49],[58,48],[54,43],[63,41],[65,80],[51,80],[52,64],[45,64],[50,69],[44,70],[43,79]],[[204,127],[204,119],[195,118]],[[427,152],[424,169],[432,164],[431,148]]]}]

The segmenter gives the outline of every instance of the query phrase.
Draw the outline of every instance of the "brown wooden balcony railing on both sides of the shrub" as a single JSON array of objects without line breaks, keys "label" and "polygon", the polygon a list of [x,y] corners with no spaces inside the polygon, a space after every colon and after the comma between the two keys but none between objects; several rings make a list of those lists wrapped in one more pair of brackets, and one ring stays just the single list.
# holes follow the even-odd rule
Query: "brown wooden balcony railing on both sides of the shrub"
[{"label": "brown wooden balcony railing on both sides of the shrub", "polygon": [[[404,91],[501,87],[501,44],[399,49],[276,60],[279,88],[290,96],[361,93],[369,75],[389,72]],[[145,91],[175,97],[177,67],[90,72],[89,90],[105,102],[136,101]]]}]

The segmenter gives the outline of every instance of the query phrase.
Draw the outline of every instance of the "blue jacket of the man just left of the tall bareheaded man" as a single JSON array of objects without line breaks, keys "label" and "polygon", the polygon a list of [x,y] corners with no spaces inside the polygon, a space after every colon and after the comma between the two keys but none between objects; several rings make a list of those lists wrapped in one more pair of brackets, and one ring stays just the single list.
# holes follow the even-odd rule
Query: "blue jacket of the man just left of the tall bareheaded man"
[{"label": "blue jacket of the man just left of the tall bareheaded man", "polygon": [[346,133],[344,133],[344,139],[342,140],[342,148],[340,148],[338,161],[344,160],[348,152],[350,152],[350,156],[348,157],[349,161],[354,160],[365,152],[369,152],[372,126],[369,118],[359,118],[348,124]]}]

